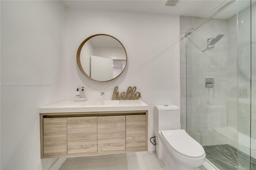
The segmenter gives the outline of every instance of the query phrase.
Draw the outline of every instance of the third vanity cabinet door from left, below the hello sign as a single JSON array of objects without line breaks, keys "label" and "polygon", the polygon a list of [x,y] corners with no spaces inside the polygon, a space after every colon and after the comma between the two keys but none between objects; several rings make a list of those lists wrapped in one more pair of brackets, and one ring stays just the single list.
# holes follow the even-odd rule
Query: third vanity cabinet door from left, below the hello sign
[{"label": "third vanity cabinet door from left, below the hello sign", "polygon": [[125,116],[98,117],[98,152],[125,150]]}]

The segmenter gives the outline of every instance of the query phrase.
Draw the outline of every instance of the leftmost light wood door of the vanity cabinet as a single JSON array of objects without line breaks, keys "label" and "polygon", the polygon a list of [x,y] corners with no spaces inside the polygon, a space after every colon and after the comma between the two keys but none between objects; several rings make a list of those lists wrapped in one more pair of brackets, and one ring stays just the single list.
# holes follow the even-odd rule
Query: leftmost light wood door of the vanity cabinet
[{"label": "leftmost light wood door of the vanity cabinet", "polygon": [[44,156],[67,154],[67,118],[43,119]]}]

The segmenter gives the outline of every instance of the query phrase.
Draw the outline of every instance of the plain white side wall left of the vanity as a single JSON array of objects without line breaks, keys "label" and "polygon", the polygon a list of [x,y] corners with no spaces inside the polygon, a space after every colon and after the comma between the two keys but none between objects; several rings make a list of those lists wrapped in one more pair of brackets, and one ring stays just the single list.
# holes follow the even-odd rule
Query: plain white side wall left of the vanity
[{"label": "plain white side wall left of the vanity", "polygon": [[17,83],[1,86],[1,169],[49,169],[56,158],[40,159],[39,107],[65,98],[65,8],[60,1],[0,3],[1,83]]}]

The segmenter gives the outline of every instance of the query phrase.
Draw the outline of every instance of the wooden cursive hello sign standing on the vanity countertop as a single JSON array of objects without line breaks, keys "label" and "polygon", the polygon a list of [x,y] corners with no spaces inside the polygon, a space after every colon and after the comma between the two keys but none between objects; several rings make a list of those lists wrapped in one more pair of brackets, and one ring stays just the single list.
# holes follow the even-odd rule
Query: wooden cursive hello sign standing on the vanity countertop
[{"label": "wooden cursive hello sign standing on the vanity countertop", "polygon": [[118,93],[118,87],[114,88],[112,100],[138,100],[141,95],[140,92],[136,92],[136,87],[128,87],[126,92]]}]

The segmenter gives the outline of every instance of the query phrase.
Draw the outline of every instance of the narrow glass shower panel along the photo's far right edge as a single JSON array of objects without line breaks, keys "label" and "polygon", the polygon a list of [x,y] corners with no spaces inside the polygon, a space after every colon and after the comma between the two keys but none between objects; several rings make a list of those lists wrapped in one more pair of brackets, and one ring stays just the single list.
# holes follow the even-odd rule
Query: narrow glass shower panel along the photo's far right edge
[{"label": "narrow glass shower panel along the photo's far right edge", "polygon": [[[238,0],[238,169],[255,170],[255,113],[252,93],[252,5],[250,0]],[[246,8],[245,8],[246,7]],[[254,11],[256,10],[254,5]],[[255,15],[255,14],[254,14]],[[255,37],[255,36],[254,36]],[[254,65],[255,67],[255,65]],[[255,111],[254,111],[255,112]],[[254,114],[254,119],[252,118]],[[255,130],[254,130],[255,131]]]}]

